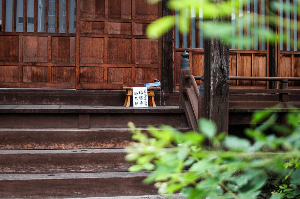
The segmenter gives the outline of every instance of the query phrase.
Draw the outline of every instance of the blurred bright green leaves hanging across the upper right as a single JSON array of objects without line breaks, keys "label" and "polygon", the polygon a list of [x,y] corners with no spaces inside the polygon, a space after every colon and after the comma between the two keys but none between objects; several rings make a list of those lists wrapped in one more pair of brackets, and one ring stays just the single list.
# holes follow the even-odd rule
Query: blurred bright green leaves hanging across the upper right
[{"label": "blurred bright green leaves hanging across the upper right", "polygon": [[[148,0],[152,3],[157,3],[160,0]],[[265,1],[268,2],[268,1]],[[247,0],[169,0],[168,8],[176,11],[174,16],[164,16],[155,22],[152,22],[147,27],[147,35],[150,38],[157,38],[163,33],[170,30],[173,25],[179,28],[181,32],[188,32],[190,27],[191,9],[195,10],[195,15],[203,17],[203,29],[204,37],[216,37],[225,42],[232,42],[232,44],[244,45],[251,43],[251,39],[247,35],[240,35],[239,37],[233,37],[232,31],[244,28],[247,21],[253,18],[256,20],[251,23],[256,24],[261,20],[261,15],[258,13],[246,14],[248,11],[240,10],[240,7],[247,5]],[[268,13],[267,23],[269,26],[275,27],[279,24],[281,16],[277,15],[277,11],[281,10],[294,10],[292,5],[283,5],[278,1],[271,1],[270,7],[266,10]],[[275,12],[274,12],[275,11]],[[297,7],[298,13],[300,13],[300,7]],[[231,19],[236,21],[236,27],[232,27]],[[291,20],[291,19],[287,19]],[[291,20],[291,23],[293,21]],[[286,28],[287,23],[283,24]],[[239,27],[240,26],[240,27]],[[234,28],[234,30],[233,30]],[[298,27],[299,28],[299,27]],[[258,34],[262,39],[269,42],[275,42],[278,39],[278,35],[274,33],[271,28],[268,27],[253,27],[251,26],[251,33]],[[280,34],[280,37],[287,38],[286,35]]]}]

